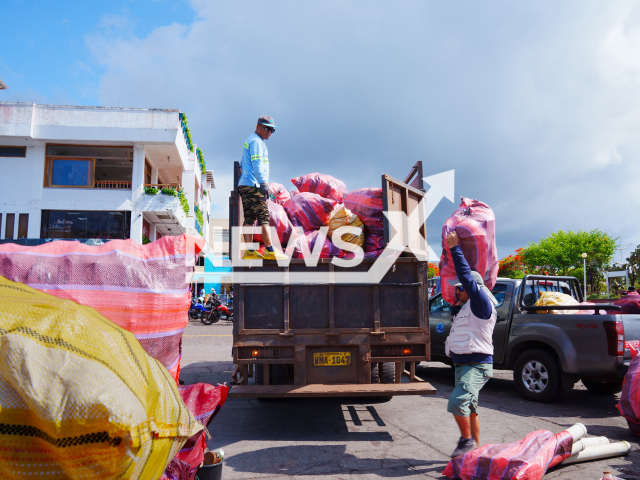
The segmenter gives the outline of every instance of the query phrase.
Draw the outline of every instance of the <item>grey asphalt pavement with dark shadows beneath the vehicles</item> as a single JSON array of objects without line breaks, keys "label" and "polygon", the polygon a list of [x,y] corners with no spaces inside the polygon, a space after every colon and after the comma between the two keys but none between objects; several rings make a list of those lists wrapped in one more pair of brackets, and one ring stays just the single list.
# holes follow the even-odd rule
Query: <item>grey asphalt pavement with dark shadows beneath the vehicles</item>
[{"label": "grey asphalt pavement with dark shadows beneath the vehicles", "polygon": [[[190,323],[183,342],[186,383],[230,380],[231,326]],[[438,389],[435,397],[367,399],[229,400],[213,420],[209,448],[226,453],[223,478],[446,478],[441,475],[458,432],[446,412],[453,370],[438,362],[416,373]],[[582,384],[554,404],[521,399],[511,372],[496,372],[482,390],[483,443],[513,442],[534,430],[560,432],[574,423],[590,435],[626,440],[627,457],[556,467],[545,479],[596,480],[604,470],[640,480],[638,437],[629,433],[615,405],[618,396],[598,397]]]}]

